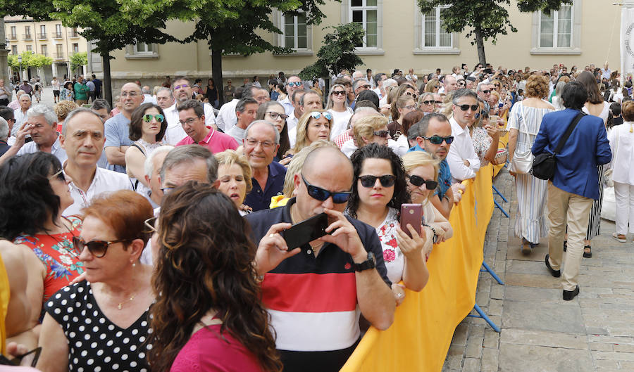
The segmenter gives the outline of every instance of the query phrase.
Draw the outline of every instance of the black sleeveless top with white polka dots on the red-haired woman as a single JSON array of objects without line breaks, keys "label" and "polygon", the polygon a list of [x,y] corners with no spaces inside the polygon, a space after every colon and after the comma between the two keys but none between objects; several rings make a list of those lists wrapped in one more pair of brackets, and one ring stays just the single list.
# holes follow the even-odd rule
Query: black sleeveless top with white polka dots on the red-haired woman
[{"label": "black sleeveless top with white polka dots on the red-haired woman", "polygon": [[101,312],[87,281],[62,288],[45,307],[68,340],[68,371],[149,371],[149,309],[132,326],[120,328]]}]

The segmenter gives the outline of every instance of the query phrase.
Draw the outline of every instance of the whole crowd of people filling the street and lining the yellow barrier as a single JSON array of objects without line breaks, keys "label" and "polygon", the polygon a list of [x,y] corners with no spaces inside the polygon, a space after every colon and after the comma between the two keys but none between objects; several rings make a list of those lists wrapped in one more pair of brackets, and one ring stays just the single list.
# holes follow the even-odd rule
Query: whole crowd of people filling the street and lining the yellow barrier
[{"label": "whole crowd of people filling the street and lining the yellow barrier", "polygon": [[[613,153],[614,237],[634,218],[631,84],[619,94],[607,64],[441,72],[342,71],[328,87],[280,72],[268,89],[254,77],[222,92],[128,82],[116,108],[18,91],[0,107],[11,349],[41,346],[41,371],[338,371],[368,324],[390,327],[405,289],[430,280],[462,181],[505,161],[521,249],[548,236],[553,276],[567,226],[571,300]],[[554,178],[533,177],[533,154],[581,110]],[[421,226],[400,224],[411,203]],[[287,244],[321,214],[326,235]]]}]

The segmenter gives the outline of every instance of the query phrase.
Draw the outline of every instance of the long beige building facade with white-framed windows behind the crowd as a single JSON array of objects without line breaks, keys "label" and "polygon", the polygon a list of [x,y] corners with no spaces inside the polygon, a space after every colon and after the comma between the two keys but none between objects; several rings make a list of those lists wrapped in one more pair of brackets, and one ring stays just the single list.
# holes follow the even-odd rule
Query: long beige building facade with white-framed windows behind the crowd
[{"label": "long beige building facade with white-framed windows behind the crowd", "polygon": [[[342,0],[328,1],[321,7],[326,17],[321,25],[306,25],[303,15],[273,13],[273,22],[283,34],[266,34],[272,44],[291,47],[284,55],[260,53],[253,56],[224,56],[223,77],[242,84],[242,78],[284,71],[287,75],[314,63],[330,25],[358,22],[366,30],[357,53],[363,59],[359,70],[391,72],[395,68],[416,74],[441,68],[451,72],[454,65],[478,62],[478,53],[466,34],[445,32],[440,15],[444,7],[421,13],[416,0]],[[552,13],[520,13],[511,1],[509,20],[518,32],[500,34],[497,44],[485,41],[487,62],[517,70],[552,68],[564,63],[581,69],[607,60],[613,70],[619,68],[619,23],[621,7],[611,0],[574,0]],[[168,22],[168,32],[187,37],[193,23]],[[166,75],[211,77],[211,55],[206,41],[190,44],[168,43],[130,45],[113,52],[111,61],[113,89],[125,81],[140,79],[143,84],[158,85]],[[89,57],[89,70],[101,72],[98,58]],[[95,60],[95,63],[92,61]],[[234,84],[235,84],[234,82]],[[205,82],[204,82],[205,84]],[[237,84],[237,85],[240,85]],[[235,84],[236,85],[236,84]]]}]

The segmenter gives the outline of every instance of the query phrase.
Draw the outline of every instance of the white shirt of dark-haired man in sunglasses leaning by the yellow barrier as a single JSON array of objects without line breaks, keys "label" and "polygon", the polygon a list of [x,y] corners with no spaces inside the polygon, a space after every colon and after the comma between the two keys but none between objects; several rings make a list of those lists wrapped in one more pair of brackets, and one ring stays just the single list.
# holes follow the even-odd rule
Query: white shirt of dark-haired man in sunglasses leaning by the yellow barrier
[{"label": "white shirt of dark-haired man in sunglasses leaning by the yellow barrier", "polygon": [[[475,177],[475,172],[480,169],[480,158],[475,155],[468,129],[462,129],[454,117],[449,119],[449,123],[452,124],[454,142],[449,147],[447,163],[452,171],[452,183],[456,183]],[[467,160],[469,166],[464,165],[462,160]]]}]

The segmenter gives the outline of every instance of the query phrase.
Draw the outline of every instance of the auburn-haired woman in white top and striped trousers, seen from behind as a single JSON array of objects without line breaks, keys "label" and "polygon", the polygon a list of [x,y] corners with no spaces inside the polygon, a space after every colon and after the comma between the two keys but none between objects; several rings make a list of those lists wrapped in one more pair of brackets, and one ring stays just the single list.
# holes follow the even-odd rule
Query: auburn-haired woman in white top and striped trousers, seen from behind
[{"label": "auburn-haired woman in white top and striped trousers, seen from behind", "polygon": [[[526,98],[513,105],[506,129],[509,132],[509,161],[511,170],[513,158],[531,157],[535,136],[540,132],[542,117],[552,113],[554,107],[543,98],[548,94],[548,80],[538,75],[530,75],[526,82]],[[516,169],[518,170],[518,169]],[[544,206],[546,205],[547,181],[537,179],[532,174],[511,172],[515,177],[517,193],[517,215],[515,236],[521,238],[521,250],[528,255],[540,237],[548,233]]]}]

